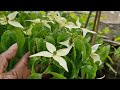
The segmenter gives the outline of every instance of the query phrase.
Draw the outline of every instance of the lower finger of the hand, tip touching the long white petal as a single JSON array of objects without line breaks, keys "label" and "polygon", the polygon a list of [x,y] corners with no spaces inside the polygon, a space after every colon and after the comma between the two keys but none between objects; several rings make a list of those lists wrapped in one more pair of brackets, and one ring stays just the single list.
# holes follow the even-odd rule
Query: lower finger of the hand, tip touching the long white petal
[{"label": "lower finger of the hand, tip touching the long white petal", "polygon": [[27,52],[27,53],[21,58],[21,60],[18,62],[18,64],[15,66],[15,68],[27,66],[28,60],[29,60],[29,56],[30,56],[30,52]]}]

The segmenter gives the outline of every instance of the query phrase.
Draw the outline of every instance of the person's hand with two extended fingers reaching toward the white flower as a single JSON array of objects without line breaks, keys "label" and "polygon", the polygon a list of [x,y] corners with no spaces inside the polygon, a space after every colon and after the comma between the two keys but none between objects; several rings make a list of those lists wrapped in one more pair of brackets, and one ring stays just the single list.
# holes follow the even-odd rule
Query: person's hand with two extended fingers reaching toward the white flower
[{"label": "person's hand with two extended fingers reaching toward the white flower", "polygon": [[30,75],[30,70],[27,66],[30,52],[27,52],[12,70],[4,73],[8,62],[15,57],[17,50],[18,45],[13,44],[7,51],[0,55],[0,79],[26,79]]}]

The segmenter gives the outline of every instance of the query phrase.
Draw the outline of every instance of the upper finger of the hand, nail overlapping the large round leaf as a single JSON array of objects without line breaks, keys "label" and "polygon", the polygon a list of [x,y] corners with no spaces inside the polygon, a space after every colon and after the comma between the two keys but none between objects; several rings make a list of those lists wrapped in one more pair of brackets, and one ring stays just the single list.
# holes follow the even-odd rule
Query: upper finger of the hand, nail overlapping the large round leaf
[{"label": "upper finger of the hand, nail overlapping the large round leaf", "polygon": [[2,57],[5,57],[7,61],[10,61],[15,57],[18,50],[17,43],[13,44],[7,51],[1,54]]}]

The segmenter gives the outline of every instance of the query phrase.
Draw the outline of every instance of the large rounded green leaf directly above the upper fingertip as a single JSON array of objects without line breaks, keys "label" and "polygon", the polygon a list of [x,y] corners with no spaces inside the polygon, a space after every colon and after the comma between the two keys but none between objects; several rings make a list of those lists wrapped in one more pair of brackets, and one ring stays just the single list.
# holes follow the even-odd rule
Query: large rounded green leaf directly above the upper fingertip
[{"label": "large rounded green leaf directly above the upper fingertip", "polygon": [[18,43],[19,49],[24,46],[25,37],[20,29],[15,29],[13,31],[7,30],[3,33],[1,37],[1,46],[3,50],[7,50],[15,42]]}]

